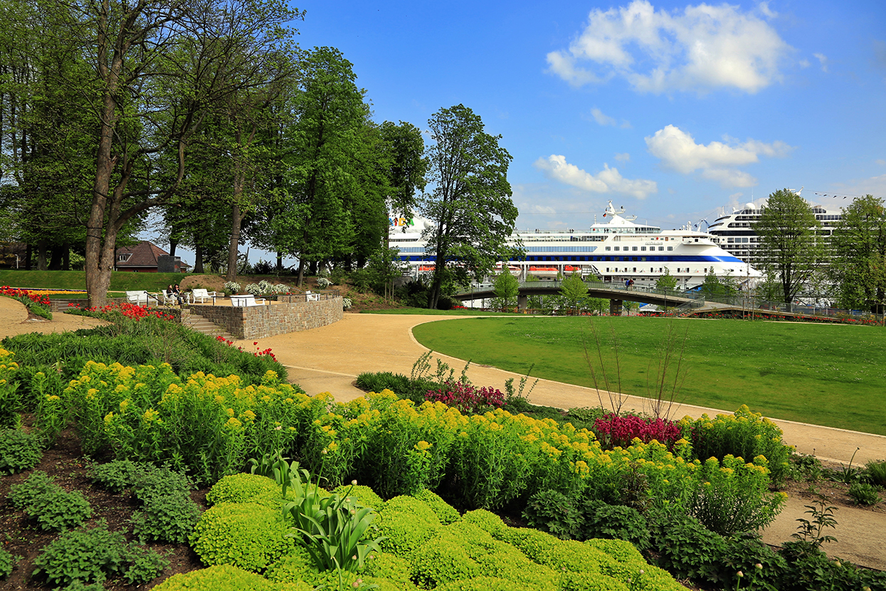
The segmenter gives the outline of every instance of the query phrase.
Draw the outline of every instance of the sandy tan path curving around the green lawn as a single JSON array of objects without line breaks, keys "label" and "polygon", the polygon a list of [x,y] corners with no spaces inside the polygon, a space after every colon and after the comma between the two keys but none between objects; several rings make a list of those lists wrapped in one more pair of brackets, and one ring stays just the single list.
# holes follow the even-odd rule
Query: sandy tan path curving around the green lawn
[{"label": "sandy tan path curving around the green lawn", "polygon": [[[258,345],[253,345],[254,341],[240,341],[237,346],[243,346],[247,351],[255,347],[260,350],[270,347],[277,360],[289,369],[290,381],[299,384],[309,394],[329,392],[337,400],[353,400],[363,394],[354,386],[354,380],[364,371],[410,374],[413,363],[428,350],[412,336],[414,326],[437,321],[455,322],[465,317],[474,316],[346,314],[343,320],[323,328],[262,338]],[[520,318],[511,318],[514,317]],[[463,360],[441,354],[435,356],[455,368],[456,373],[464,367]],[[509,377],[514,377],[515,382],[522,377],[509,371],[473,364],[468,369],[468,376],[475,384],[499,388],[503,388],[504,381]],[[633,396],[623,398],[623,408],[649,410],[646,399]],[[539,380],[530,400],[534,404],[558,408],[610,404],[609,393],[544,379]],[[732,413],[732,410],[684,404],[675,405],[671,416],[698,417],[703,413],[712,416]],[[780,419],[774,422],[784,432],[785,441],[797,447],[802,454],[812,454],[814,450],[820,459],[848,463],[856,447],[859,447],[854,460],[856,465],[867,460],[886,459],[886,437],[881,435]],[[797,518],[809,517],[804,515],[804,504],[809,503],[802,498],[790,497],[777,520],[764,531],[764,540],[774,545],[789,540],[790,535],[797,532]],[[886,514],[841,508],[836,511],[835,517],[839,525],[829,533],[839,541],[828,544],[825,548],[828,553],[855,564],[886,570]]]}]

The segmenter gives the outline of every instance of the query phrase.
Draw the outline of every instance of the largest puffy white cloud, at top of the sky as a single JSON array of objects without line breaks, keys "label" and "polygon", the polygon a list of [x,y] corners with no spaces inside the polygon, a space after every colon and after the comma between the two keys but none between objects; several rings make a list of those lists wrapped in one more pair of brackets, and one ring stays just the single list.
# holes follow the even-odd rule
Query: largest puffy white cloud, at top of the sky
[{"label": "largest puffy white cloud, at top of the sky", "polygon": [[[765,3],[760,10],[771,12]],[[573,86],[618,75],[641,92],[754,93],[781,79],[779,62],[790,50],[765,20],[737,6],[699,4],[667,12],[633,0],[591,11],[568,50],[548,53],[548,65]]]}]

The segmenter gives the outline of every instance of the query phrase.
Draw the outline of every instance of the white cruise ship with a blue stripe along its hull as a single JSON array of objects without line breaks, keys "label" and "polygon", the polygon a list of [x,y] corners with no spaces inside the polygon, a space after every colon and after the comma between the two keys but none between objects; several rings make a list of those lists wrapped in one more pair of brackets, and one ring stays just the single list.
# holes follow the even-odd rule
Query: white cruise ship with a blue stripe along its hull
[{"label": "white cruise ship with a blue stripe along its hull", "polygon": [[[612,202],[603,212],[605,222],[588,229],[517,231],[510,245],[522,245],[523,260],[501,261],[500,267],[521,281],[528,276],[552,280],[556,276],[580,273],[602,281],[653,286],[659,276],[670,273],[678,289],[691,290],[704,282],[711,271],[719,277],[732,277],[738,285],[754,284],[761,275],[714,242],[711,234],[692,229],[663,230],[635,223],[635,215],[625,208],[616,210]],[[433,271],[434,255],[425,253],[422,231],[431,222],[421,218],[392,218],[390,245],[400,251],[400,261],[408,263],[409,275]]]}]

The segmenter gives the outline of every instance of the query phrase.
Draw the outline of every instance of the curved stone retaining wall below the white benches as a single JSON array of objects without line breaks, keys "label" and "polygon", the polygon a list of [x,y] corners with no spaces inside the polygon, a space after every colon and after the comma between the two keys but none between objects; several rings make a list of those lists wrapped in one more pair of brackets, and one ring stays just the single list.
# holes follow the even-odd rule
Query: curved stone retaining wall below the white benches
[{"label": "curved stone retaining wall below the white benches", "polygon": [[265,338],[310,330],[344,317],[340,296],[319,301],[282,302],[266,306],[197,306],[194,313],[223,326],[236,338]]}]

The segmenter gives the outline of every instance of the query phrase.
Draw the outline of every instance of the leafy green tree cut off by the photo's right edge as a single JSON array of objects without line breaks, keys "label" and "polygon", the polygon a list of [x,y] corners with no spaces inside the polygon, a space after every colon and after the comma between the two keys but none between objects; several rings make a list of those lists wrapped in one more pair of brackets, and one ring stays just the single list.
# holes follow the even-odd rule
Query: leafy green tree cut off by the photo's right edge
[{"label": "leafy green tree cut off by the photo's right edge", "polygon": [[830,245],[841,306],[882,314],[886,305],[886,208],[873,195],[843,208]]}]

